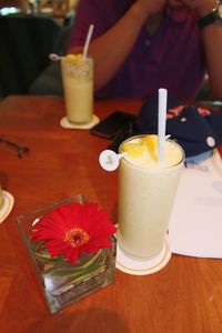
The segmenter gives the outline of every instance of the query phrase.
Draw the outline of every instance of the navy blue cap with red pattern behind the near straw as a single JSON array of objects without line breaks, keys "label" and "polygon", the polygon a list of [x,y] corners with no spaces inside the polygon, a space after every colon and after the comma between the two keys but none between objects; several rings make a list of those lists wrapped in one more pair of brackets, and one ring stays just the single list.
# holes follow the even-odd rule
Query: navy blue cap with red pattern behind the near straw
[{"label": "navy blue cap with red pattern behind the near straw", "polygon": [[[158,95],[142,105],[138,125],[140,133],[158,132]],[[222,113],[181,105],[169,97],[167,134],[181,144],[186,158],[210,151],[222,143]]]}]

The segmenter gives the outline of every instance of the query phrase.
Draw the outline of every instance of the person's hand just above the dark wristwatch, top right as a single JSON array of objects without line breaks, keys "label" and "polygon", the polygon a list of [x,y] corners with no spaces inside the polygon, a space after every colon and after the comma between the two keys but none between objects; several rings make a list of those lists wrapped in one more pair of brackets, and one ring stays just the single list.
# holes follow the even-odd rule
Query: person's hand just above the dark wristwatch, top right
[{"label": "person's hand just above the dark wristwatch, top right", "polygon": [[[169,0],[170,1],[170,0]],[[176,1],[176,0],[171,0]],[[215,0],[178,0],[188,8],[191,8],[196,11],[199,17],[204,17],[215,7]]]}]

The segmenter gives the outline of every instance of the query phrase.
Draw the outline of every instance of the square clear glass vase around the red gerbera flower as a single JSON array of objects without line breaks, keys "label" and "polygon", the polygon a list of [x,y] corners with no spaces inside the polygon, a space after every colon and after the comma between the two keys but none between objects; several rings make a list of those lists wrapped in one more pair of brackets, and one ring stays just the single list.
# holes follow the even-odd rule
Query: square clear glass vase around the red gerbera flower
[{"label": "square clear glass vase around the red gerbera flower", "polygon": [[33,263],[33,278],[43,292],[50,313],[82,297],[108,286],[114,282],[117,240],[111,236],[111,248],[102,248],[98,253],[80,255],[77,263],[69,264],[62,256],[51,259],[41,243],[31,243],[30,234],[33,222],[47,215],[61,204],[78,201],[83,203],[84,196],[79,194],[63,199],[50,205],[38,208],[17,218],[17,225],[29,250]]}]

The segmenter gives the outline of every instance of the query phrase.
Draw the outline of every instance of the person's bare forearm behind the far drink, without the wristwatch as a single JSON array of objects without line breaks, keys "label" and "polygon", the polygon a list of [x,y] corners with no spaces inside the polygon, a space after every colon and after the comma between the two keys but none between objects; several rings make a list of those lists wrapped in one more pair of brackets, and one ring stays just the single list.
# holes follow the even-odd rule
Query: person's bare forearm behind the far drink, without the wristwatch
[{"label": "person's bare forearm behind the far drink, without the wristwatch", "polygon": [[[138,0],[125,14],[104,34],[90,43],[89,54],[94,60],[94,88],[98,90],[112,79],[135,43],[143,24],[163,10],[165,0]],[[82,52],[73,47],[70,53]]]}]

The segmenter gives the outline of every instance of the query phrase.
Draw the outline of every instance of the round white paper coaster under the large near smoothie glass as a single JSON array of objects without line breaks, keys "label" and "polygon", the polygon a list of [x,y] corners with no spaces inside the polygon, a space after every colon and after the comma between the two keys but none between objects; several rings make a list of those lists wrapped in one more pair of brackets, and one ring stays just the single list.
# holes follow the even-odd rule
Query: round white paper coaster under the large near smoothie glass
[{"label": "round white paper coaster under the large near smoothie glass", "polygon": [[118,270],[131,275],[148,275],[160,271],[167,265],[171,259],[171,252],[168,238],[165,238],[164,246],[159,255],[153,259],[135,260],[128,256],[119,245],[117,245],[117,263]]}]

